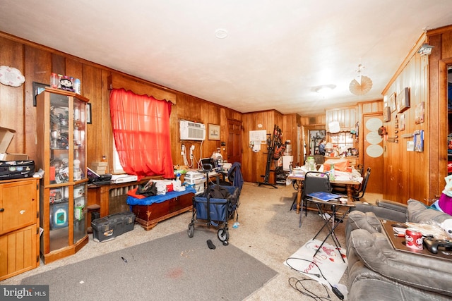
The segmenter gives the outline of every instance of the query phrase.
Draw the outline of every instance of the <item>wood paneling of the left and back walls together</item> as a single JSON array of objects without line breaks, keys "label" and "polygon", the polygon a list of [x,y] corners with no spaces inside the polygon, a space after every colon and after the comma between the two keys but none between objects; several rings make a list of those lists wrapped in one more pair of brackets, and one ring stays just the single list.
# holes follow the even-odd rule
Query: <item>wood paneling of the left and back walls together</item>
[{"label": "wood paneling of the left and back walls together", "polygon": [[[184,164],[181,155],[182,143],[188,149],[195,145],[194,155],[196,159],[211,156],[220,148],[223,158],[227,158],[227,145],[221,146],[221,142],[227,143],[227,121],[233,119],[242,122],[242,173],[244,180],[249,182],[261,182],[261,176],[266,173],[266,145],[261,145],[260,152],[252,152],[249,146],[249,130],[265,129],[267,133],[273,133],[273,126],[278,125],[283,130],[283,141],[290,140],[292,154],[297,155],[297,128],[310,125],[325,124],[324,114],[319,116],[299,116],[269,110],[253,113],[239,113],[234,109],[226,108],[199,99],[183,92],[170,90],[153,82],[148,82],[132,75],[120,73],[97,63],[86,61],[76,56],[62,53],[55,49],[29,42],[25,39],[0,32],[0,65],[11,66],[21,70],[25,75],[25,84],[20,87],[8,87],[0,85],[0,126],[13,128],[16,136],[11,142],[8,152],[27,153],[30,159],[35,157],[39,141],[36,140],[36,108],[33,106],[32,82],[47,84],[52,72],[73,76],[81,79],[82,94],[90,99],[92,105],[92,124],[88,125],[88,164],[92,161],[100,161],[102,156],[107,156],[112,162],[112,128],[109,118],[109,77],[112,75],[125,78],[124,85],[138,85],[141,94],[155,94],[155,91],[171,92],[175,95],[172,107],[171,140],[172,158],[174,164]],[[124,87],[128,88],[128,87]],[[130,89],[133,90],[133,89]],[[156,97],[158,98],[158,96]],[[178,121],[186,119],[198,121],[208,125],[209,123],[220,125],[220,140],[206,140],[205,142],[184,142],[179,139]],[[262,128],[258,128],[261,124]],[[295,158],[294,163],[303,164],[303,141],[300,144],[300,158]],[[188,154],[188,152],[187,152]],[[275,161],[272,162],[274,168]],[[37,166],[39,168],[39,166]],[[111,166],[110,166],[111,167]],[[273,183],[274,174],[271,174],[270,182]]]}]

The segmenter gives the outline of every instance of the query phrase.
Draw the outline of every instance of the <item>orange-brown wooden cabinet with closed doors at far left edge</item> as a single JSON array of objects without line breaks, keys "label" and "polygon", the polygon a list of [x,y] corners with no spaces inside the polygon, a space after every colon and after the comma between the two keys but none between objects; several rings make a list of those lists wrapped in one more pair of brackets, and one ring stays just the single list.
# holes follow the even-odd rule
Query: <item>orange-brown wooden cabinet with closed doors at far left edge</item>
[{"label": "orange-brown wooden cabinet with closed doors at far left edge", "polygon": [[0,181],[0,281],[40,262],[39,180]]}]

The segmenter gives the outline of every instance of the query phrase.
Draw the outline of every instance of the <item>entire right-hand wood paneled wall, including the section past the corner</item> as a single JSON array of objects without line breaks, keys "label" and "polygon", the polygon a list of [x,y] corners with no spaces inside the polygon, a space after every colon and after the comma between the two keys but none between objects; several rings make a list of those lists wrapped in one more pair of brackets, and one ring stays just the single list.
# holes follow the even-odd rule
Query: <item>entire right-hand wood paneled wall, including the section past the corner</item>
[{"label": "entire right-hand wood paneled wall, including the section past the corner", "polygon": [[[429,56],[417,50],[428,42],[434,48]],[[406,203],[441,195],[447,175],[447,96],[446,65],[452,63],[452,27],[442,27],[421,35],[405,61],[383,91],[385,99],[404,87],[410,87],[410,109],[404,111],[405,130],[395,133],[396,112],[386,123],[388,137],[398,135],[398,143],[384,144],[383,197]],[[424,102],[424,122],[415,123],[415,108]],[[400,116],[400,114],[397,114]],[[424,152],[408,152],[404,134],[424,130]]]}]

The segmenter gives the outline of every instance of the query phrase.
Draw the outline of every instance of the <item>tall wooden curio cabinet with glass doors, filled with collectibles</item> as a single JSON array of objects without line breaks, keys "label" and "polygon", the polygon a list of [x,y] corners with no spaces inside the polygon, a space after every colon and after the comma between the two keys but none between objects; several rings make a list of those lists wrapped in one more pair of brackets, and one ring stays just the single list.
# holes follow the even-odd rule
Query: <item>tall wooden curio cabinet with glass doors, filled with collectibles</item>
[{"label": "tall wooden curio cabinet with glass doors, filled with collectibles", "polygon": [[37,97],[36,164],[44,170],[40,249],[45,264],[88,243],[86,103],[79,94],[51,88]]}]

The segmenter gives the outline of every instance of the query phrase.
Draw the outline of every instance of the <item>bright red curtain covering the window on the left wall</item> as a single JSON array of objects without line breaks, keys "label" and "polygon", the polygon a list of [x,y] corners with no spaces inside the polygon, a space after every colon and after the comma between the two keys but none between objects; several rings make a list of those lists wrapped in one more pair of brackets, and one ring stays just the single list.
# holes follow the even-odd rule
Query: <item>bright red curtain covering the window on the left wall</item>
[{"label": "bright red curtain covering the window on the left wall", "polygon": [[169,141],[171,102],[124,89],[110,93],[113,137],[124,171],[174,178]]}]

